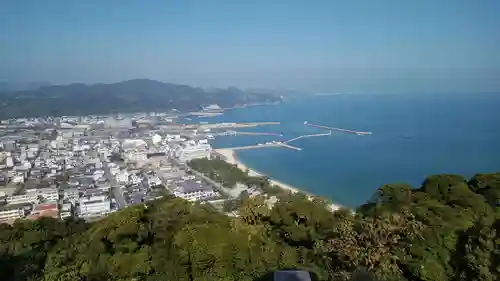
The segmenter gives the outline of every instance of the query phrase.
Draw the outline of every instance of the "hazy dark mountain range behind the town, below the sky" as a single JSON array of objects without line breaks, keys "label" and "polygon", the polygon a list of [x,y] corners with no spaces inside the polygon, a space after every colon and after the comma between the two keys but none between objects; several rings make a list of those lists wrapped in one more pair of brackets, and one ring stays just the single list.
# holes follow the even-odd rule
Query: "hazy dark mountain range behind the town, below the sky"
[{"label": "hazy dark mountain range behind the town, below the sky", "polygon": [[134,79],[113,84],[42,86],[3,92],[0,93],[0,119],[170,109],[189,111],[208,104],[228,108],[279,101],[277,95],[235,87],[206,91],[186,85]]}]

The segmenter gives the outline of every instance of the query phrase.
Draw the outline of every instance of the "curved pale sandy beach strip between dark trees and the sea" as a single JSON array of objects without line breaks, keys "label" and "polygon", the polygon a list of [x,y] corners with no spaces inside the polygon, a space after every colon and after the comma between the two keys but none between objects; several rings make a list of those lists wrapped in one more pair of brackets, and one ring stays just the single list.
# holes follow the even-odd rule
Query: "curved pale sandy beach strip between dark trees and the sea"
[{"label": "curved pale sandy beach strip between dark trees and the sea", "polygon": [[[304,194],[306,194],[307,196],[315,196],[314,194],[311,194],[307,191],[303,191],[302,189],[300,188],[297,188],[295,186],[292,186],[290,184],[287,184],[287,183],[284,183],[282,181],[279,181],[279,180],[276,180],[264,173],[261,173],[255,169],[252,169],[250,167],[248,167],[247,165],[245,165],[243,162],[241,162],[238,158],[238,156],[236,155],[236,151],[230,149],[230,148],[221,148],[221,149],[214,149],[215,152],[217,152],[218,154],[222,155],[224,158],[225,158],[225,161],[228,162],[229,164],[233,164],[233,165],[236,165],[238,168],[240,168],[241,170],[245,171],[248,169],[248,174],[250,176],[253,176],[253,177],[267,177],[269,179],[269,182],[272,184],[272,185],[277,185],[279,186],[280,188],[284,189],[284,190],[287,190],[287,191],[290,191],[292,193],[296,193],[296,192],[302,192]],[[340,204],[336,204],[336,203],[332,203],[330,205],[330,209],[332,211],[337,211],[341,208],[344,208],[342,205]]]}]

